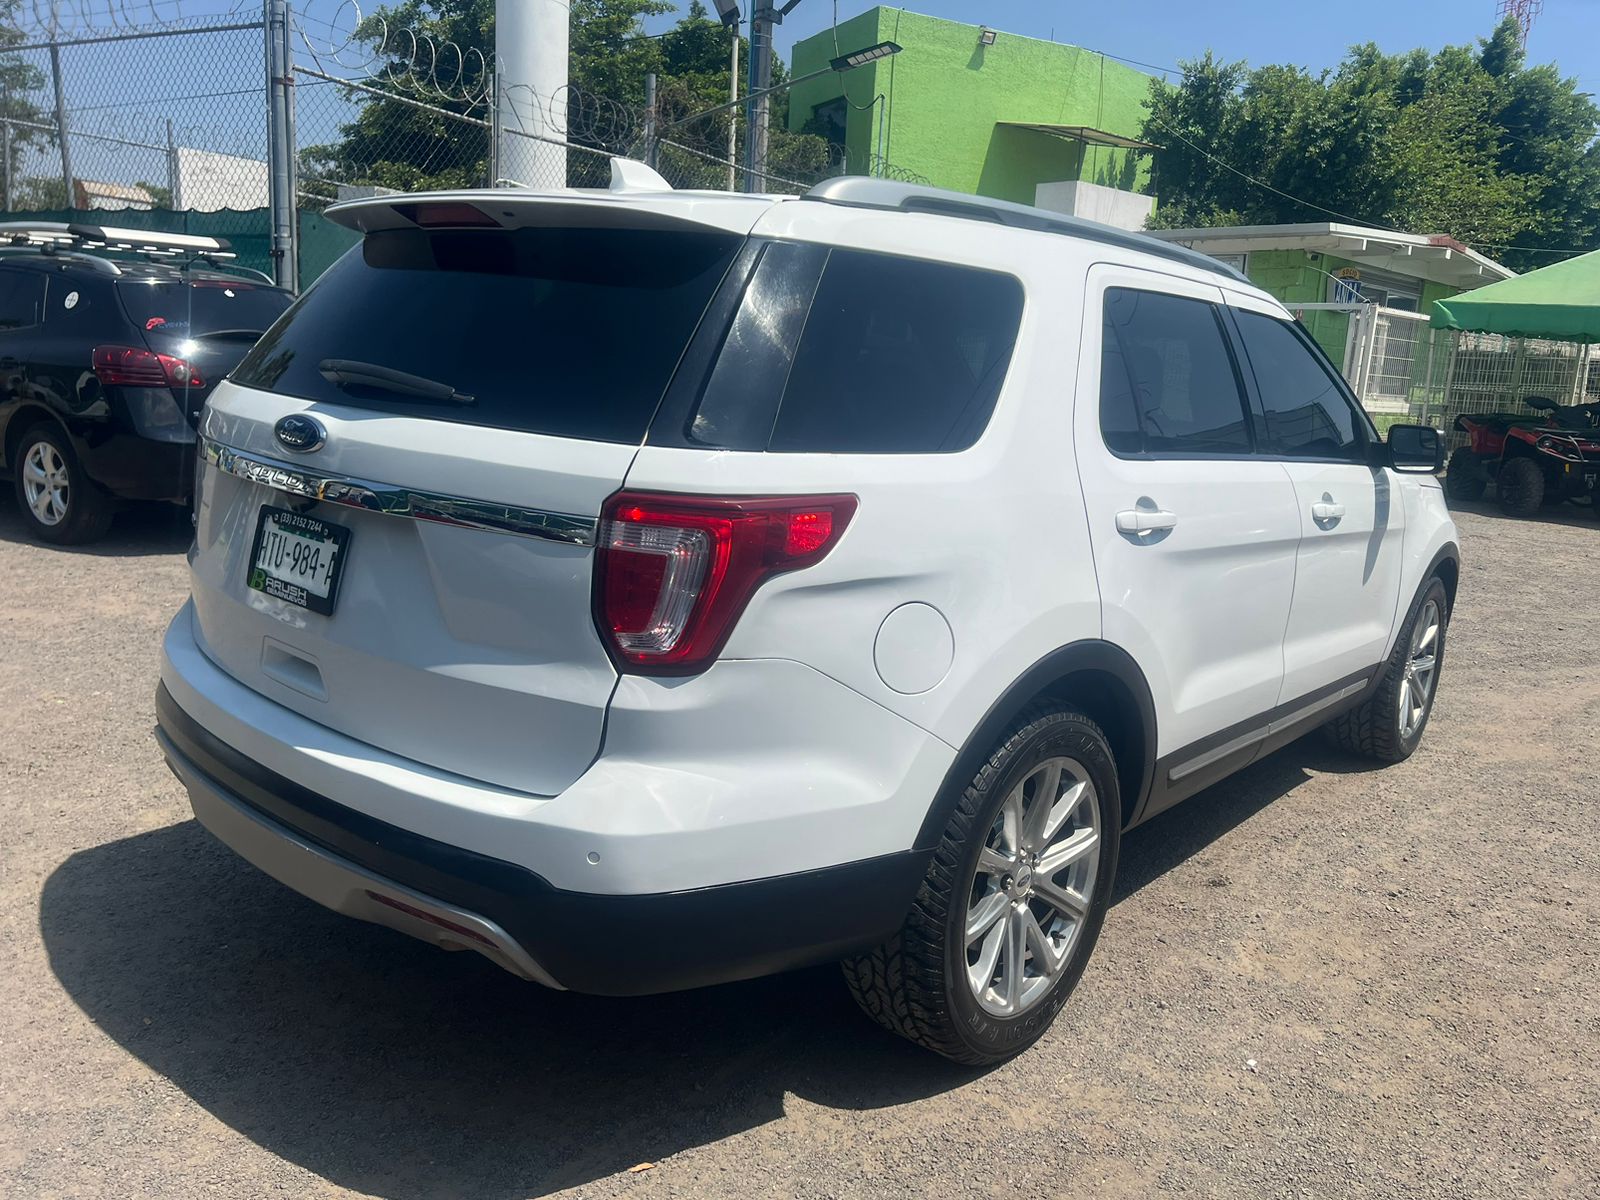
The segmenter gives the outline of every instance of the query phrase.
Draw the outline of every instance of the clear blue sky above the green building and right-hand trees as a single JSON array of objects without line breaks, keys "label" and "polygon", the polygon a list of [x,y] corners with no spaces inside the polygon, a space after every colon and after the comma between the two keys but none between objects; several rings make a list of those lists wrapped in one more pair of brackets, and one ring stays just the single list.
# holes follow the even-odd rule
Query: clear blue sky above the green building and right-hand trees
[{"label": "clear blue sky above the green building and right-hand trees", "polygon": [[[686,3],[686,0],[685,0]],[[749,0],[741,6],[749,13]],[[915,0],[899,5],[952,21],[986,24],[1026,37],[1070,42],[1107,54],[1176,67],[1206,48],[1253,64],[1333,66],[1357,42],[1376,42],[1397,53],[1437,50],[1485,37],[1494,27],[1496,0],[1133,0],[1066,3],[1064,0]],[[710,3],[707,0],[707,8]],[[834,11],[845,21],[872,8],[862,0],[800,0],[778,30],[784,59],[789,46],[827,29]],[[1600,94],[1600,0],[1546,0],[1528,40],[1530,61],[1557,62],[1578,75],[1584,91]]]}]

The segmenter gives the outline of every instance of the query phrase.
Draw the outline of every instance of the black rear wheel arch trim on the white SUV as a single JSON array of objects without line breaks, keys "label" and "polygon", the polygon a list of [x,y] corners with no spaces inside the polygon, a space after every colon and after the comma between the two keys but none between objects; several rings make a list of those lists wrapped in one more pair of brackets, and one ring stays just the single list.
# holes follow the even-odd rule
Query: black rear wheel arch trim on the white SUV
[{"label": "black rear wheel arch trim on the white SUV", "polygon": [[1051,651],[989,706],[946,773],[922,829],[917,848],[938,845],[962,792],[1011,730],[1037,702],[1070,706],[1106,733],[1117,762],[1122,821],[1133,821],[1155,776],[1155,701],[1139,664],[1110,642],[1074,642]]}]

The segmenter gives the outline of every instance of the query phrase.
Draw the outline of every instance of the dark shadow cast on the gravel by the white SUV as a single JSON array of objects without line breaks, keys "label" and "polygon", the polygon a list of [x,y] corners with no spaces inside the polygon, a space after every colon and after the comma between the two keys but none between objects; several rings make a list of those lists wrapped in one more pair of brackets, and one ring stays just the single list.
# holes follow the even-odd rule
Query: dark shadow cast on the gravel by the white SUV
[{"label": "dark shadow cast on the gravel by the white SUV", "polygon": [[[1117,896],[1328,762],[1291,746],[1123,843]],[[40,926],[67,994],[216,1118],[382,1197],[528,1197],[776,1120],[786,1093],[904,1104],[979,1072],[862,1018],[832,966],[642,1000],[547,992],[336,917],[186,821],[80,851]],[[627,970],[629,930],[595,930]],[[1101,954],[1115,954],[1102,944]]]}]

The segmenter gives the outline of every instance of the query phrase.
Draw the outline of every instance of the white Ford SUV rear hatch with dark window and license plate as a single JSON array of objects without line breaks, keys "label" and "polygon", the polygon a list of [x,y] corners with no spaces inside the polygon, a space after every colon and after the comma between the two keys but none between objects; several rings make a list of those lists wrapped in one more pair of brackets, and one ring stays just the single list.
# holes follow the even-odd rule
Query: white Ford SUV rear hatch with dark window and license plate
[{"label": "white Ford SUV rear hatch with dark window and license plate", "polygon": [[[192,587],[202,646],[250,688],[552,795],[598,752],[616,683],[594,522],[742,234],[491,195],[363,206],[363,245],[218,389]],[[747,227],[758,210],[733,211]],[[294,414],[322,445],[277,435]],[[269,533],[306,522],[304,546]],[[277,542],[320,552],[326,598],[274,582],[290,568],[259,547]]]}]

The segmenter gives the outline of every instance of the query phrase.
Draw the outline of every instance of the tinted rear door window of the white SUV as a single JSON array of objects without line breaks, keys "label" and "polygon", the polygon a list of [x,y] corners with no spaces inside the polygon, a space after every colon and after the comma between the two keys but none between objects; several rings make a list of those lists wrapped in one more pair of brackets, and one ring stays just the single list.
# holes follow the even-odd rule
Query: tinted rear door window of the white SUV
[{"label": "tinted rear door window of the white SUV", "polygon": [[1109,288],[1101,432],[1123,454],[1248,454],[1238,374],[1214,304]]}]

